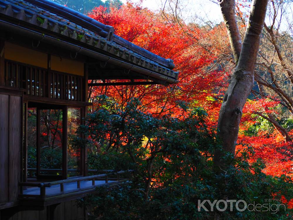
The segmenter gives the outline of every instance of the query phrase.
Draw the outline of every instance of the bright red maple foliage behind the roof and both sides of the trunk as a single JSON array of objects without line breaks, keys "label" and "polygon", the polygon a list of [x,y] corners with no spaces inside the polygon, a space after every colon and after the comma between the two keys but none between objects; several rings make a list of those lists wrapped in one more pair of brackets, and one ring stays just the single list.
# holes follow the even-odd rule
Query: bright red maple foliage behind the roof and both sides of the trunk
[{"label": "bright red maple foliage behind the roof and both sides of the trunk", "polygon": [[[237,1],[237,12],[244,21],[245,16],[240,6],[247,7],[248,3],[244,1],[241,4]],[[209,69],[213,65],[218,65],[216,61],[223,59],[223,53],[229,53],[229,40],[224,25],[221,24],[208,31],[196,25],[184,23],[179,25],[172,20],[173,18],[166,18],[129,3],[120,9],[98,7],[89,16],[113,26],[115,33],[122,38],[162,57],[173,59],[180,80],[178,84],[170,87],[158,85],[98,87],[92,90],[92,97],[106,94],[122,105],[130,97],[137,97],[150,113],[159,116],[172,111],[177,117],[184,114],[178,108],[178,104],[180,101],[185,101],[194,106],[204,107],[209,113],[208,126],[217,126],[221,97],[226,90],[227,78],[232,68],[221,66],[218,68],[219,71],[209,71]],[[230,61],[228,59],[225,62]],[[222,67],[226,69],[223,70]],[[271,98],[275,99],[275,97]],[[255,136],[245,136],[243,133],[255,124],[256,116],[253,113],[256,111],[277,113],[276,106],[279,102],[272,99],[255,99],[246,103],[240,125],[239,143],[254,147],[256,153],[251,162],[262,158],[267,165],[264,170],[266,174],[292,176],[292,155],[288,151],[292,143],[285,143],[283,137],[276,131],[273,133],[258,131]],[[97,103],[94,105],[98,107]],[[239,145],[238,148],[241,146]]]}]

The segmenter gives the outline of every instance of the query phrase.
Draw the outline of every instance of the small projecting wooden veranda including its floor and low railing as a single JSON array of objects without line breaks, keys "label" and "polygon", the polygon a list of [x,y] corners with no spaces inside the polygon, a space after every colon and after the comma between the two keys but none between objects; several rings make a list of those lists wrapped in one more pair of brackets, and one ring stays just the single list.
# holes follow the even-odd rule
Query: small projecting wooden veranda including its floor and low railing
[{"label": "small projecting wooden veranda including its floor and low railing", "polygon": [[[72,199],[85,197],[89,193],[94,193],[96,187],[108,186],[114,187],[129,180],[129,178],[120,178],[120,175],[131,175],[133,170],[118,172],[108,172],[105,174],[69,178],[53,182],[21,182],[21,192],[18,199],[23,206],[45,207],[51,204],[69,201]],[[108,176],[117,175],[116,178]]]}]

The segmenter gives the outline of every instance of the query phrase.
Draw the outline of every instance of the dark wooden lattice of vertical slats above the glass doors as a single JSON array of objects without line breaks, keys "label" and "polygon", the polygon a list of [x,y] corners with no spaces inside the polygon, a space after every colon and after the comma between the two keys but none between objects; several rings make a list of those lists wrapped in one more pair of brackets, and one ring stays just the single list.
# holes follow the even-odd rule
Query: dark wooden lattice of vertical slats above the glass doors
[{"label": "dark wooden lattice of vertical slats above the glass doors", "polygon": [[84,77],[49,71],[12,60],[5,60],[6,87],[25,89],[26,95],[45,98],[84,101]]}]

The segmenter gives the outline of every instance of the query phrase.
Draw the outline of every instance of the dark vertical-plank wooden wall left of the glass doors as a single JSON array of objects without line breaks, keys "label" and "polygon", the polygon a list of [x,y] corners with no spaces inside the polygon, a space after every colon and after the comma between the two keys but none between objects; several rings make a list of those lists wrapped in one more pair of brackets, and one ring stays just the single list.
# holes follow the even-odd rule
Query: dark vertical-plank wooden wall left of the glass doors
[{"label": "dark vertical-plank wooden wall left of the glass doors", "polygon": [[20,92],[0,89],[0,204],[18,197],[21,174]]}]

